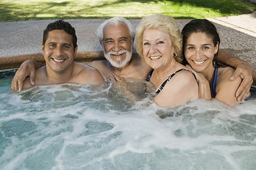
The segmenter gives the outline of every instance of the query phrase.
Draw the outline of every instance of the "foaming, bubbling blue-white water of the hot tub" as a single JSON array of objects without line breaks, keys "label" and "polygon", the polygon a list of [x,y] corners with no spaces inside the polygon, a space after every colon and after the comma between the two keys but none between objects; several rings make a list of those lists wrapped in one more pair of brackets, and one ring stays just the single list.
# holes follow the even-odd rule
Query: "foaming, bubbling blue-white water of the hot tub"
[{"label": "foaming, bubbling blue-white water of the hot tub", "polygon": [[13,92],[0,83],[1,169],[254,169],[256,93],[158,107],[112,83]]}]

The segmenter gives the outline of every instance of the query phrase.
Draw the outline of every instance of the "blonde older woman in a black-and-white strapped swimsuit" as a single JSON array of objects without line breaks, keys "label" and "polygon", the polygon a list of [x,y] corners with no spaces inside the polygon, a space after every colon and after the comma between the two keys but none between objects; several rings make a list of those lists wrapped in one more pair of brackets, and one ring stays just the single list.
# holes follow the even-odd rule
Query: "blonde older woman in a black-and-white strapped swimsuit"
[{"label": "blonde older woman in a black-and-white strapped swimsuit", "polygon": [[143,17],[136,30],[137,52],[152,67],[148,76],[156,88],[155,103],[174,106],[198,98],[193,72],[182,65],[182,37],[171,16],[154,14]]}]

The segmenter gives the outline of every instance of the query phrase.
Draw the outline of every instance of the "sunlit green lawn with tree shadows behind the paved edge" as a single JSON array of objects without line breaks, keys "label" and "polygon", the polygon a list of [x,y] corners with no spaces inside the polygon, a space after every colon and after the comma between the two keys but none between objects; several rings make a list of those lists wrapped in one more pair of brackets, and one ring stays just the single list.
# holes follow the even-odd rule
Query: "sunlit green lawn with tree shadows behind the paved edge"
[{"label": "sunlit green lawn with tree shadows behind the paved edge", "polygon": [[0,0],[0,22],[40,19],[140,18],[153,13],[177,19],[239,15],[256,10],[244,0]]}]

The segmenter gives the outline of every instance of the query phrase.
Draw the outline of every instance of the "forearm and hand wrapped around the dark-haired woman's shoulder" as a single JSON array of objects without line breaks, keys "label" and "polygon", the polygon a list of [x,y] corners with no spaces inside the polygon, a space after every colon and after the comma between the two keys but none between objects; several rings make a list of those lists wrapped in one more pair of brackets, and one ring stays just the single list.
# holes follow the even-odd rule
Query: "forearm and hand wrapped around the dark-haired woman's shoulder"
[{"label": "forearm and hand wrapped around the dark-haired woman's shoulder", "polygon": [[236,91],[236,97],[238,101],[243,101],[246,99],[250,94],[249,91],[253,82],[250,65],[247,62],[234,58],[223,51],[219,51],[218,61],[236,68],[230,77],[230,80],[235,80],[238,77],[242,79],[242,83]]}]

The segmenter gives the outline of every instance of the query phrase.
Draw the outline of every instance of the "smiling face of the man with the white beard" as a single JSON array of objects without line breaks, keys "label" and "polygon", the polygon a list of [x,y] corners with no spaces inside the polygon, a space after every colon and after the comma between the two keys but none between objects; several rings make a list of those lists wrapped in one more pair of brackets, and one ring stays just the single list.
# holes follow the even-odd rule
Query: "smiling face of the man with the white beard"
[{"label": "smiling face of the man with the white beard", "polygon": [[132,57],[133,40],[125,23],[106,25],[103,29],[102,46],[105,58],[114,67],[124,67]]}]

